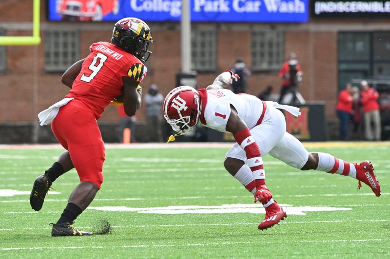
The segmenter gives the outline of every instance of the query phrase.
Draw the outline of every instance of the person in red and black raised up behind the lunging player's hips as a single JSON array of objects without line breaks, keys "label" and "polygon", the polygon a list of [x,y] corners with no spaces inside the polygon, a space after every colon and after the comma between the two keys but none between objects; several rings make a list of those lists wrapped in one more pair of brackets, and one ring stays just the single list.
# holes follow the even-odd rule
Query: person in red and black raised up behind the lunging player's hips
[{"label": "person in red and black raised up behind the lunging player's hips", "polygon": [[283,63],[279,71],[279,77],[282,78],[282,88],[280,89],[279,103],[282,103],[283,97],[287,92],[292,90],[292,87],[297,87],[302,80],[302,69],[296,60],[295,53],[290,53],[287,56],[287,61]]}]

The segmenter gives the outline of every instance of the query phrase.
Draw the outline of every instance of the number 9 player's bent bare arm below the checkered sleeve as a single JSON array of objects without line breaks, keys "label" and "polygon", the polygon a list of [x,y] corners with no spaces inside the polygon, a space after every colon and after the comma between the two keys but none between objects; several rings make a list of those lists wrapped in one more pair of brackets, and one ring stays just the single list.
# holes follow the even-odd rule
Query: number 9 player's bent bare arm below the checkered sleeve
[{"label": "number 9 player's bent bare arm below the checkered sleeve", "polygon": [[122,77],[123,81],[123,108],[128,116],[133,116],[141,106],[142,88],[128,76]]}]

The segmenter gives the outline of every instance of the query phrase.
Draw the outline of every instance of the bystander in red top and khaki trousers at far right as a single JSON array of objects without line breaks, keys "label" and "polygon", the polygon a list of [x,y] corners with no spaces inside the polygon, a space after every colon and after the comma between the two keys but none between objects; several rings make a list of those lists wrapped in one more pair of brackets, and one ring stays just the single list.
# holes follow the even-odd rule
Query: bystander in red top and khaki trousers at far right
[{"label": "bystander in red top and khaki trousers at far right", "polygon": [[[379,114],[379,93],[369,86],[367,81],[363,80],[360,83],[360,101],[363,105],[364,126],[367,140],[381,139],[381,117]],[[372,131],[371,123],[374,125]]]}]

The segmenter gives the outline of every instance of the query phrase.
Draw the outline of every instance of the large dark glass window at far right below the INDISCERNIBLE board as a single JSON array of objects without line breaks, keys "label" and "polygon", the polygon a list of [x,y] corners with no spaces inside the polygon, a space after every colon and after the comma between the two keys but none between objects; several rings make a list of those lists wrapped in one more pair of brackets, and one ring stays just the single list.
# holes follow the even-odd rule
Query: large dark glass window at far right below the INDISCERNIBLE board
[{"label": "large dark glass window at far right below the INDISCERNIBLE board", "polygon": [[390,77],[390,32],[338,34],[338,89],[353,79]]}]

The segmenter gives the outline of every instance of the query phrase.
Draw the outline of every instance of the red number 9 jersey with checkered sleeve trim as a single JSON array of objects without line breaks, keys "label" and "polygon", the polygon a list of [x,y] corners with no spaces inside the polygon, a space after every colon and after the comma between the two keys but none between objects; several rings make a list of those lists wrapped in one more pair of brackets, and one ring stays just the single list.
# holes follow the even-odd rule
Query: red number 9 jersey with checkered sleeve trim
[{"label": "red number 9 jersey with checkered sleeve trim", "polygon": [[65,97],[82,101],[98,119],[111,100],[123,94],[123,76],[139,84],[148,70],[137,57],[112,43],[100,41],[89,49],[91,53]]}]

